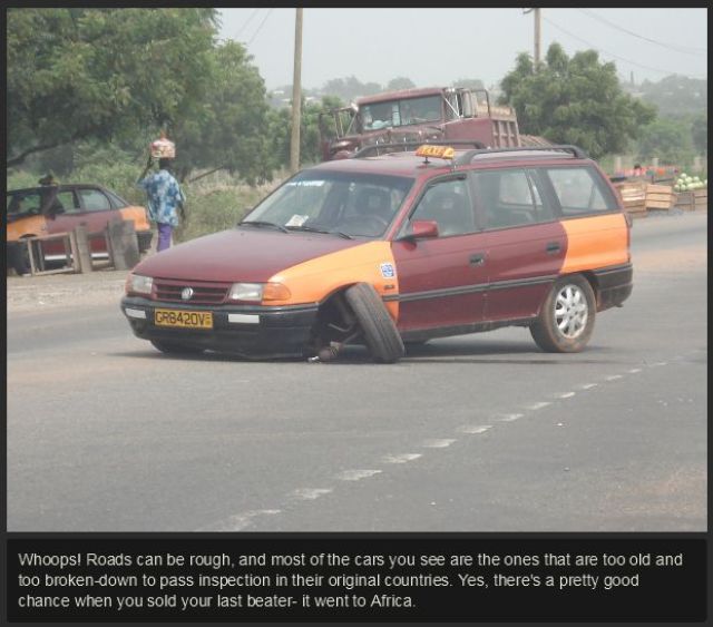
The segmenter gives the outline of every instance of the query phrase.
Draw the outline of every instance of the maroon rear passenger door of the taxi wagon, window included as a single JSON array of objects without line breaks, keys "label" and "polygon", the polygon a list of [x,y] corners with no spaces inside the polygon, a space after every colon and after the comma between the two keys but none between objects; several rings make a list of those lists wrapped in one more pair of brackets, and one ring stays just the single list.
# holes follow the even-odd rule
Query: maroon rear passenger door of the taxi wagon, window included
[{"label": "maroon rear passenger door of the taxi wagon, window included", "polygon": [[487,321],[536,315],[567,253],[555,203],[535,168],[473,172],[486,237]]}]

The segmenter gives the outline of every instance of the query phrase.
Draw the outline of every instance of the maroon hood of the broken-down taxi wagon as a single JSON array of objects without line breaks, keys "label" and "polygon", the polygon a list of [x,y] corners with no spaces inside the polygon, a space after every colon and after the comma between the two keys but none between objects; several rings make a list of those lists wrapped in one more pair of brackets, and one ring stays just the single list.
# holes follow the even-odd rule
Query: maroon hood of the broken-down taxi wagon
[{"label": "maroon hood of the broken-down taxi wagon", "polygon": [[293,265],[363,244],[336,235],[237,227],[147,257],[135,274],[154,278],[262,283]]}]

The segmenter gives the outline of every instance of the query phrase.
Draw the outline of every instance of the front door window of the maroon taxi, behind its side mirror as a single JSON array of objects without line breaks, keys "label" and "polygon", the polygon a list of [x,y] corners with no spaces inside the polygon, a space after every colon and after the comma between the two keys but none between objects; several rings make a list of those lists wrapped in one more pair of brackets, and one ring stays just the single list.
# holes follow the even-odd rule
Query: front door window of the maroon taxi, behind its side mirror
[{"label": "front door window of the maroon taxi, behind its side mirror", "polygon": [[443,180],[428,187],[410,222],[434,221],[439,236],[463,235],[476,231],[472,203],[465,178]]}]

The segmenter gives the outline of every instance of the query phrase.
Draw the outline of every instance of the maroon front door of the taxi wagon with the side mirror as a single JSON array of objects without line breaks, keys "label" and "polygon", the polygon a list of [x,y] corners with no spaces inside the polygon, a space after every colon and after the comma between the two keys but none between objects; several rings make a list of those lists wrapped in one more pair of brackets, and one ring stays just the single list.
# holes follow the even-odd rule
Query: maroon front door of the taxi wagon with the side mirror
[{"label": "maroon front door of the taxi wagon with the side mirror", "polygon": [[[408,237],[416,221],[434,221],[438,235]],[[452,331],[482,320],[485,235],[477,232],[465,175],[436,180],[422,190],[392,252],[400,331]]]}]

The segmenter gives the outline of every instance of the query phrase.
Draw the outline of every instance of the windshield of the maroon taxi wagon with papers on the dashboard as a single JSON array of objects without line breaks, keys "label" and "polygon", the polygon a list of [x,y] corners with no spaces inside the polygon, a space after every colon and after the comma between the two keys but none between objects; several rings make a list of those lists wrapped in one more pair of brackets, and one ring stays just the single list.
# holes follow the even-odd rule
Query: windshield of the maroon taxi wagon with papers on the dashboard
[{"label": "windshield of the maroon taxi wagon with papers on the dashboard", "polygon": [[273,192],[241,224],[380,237],[413,185],[412,178],[304,170]]}]

